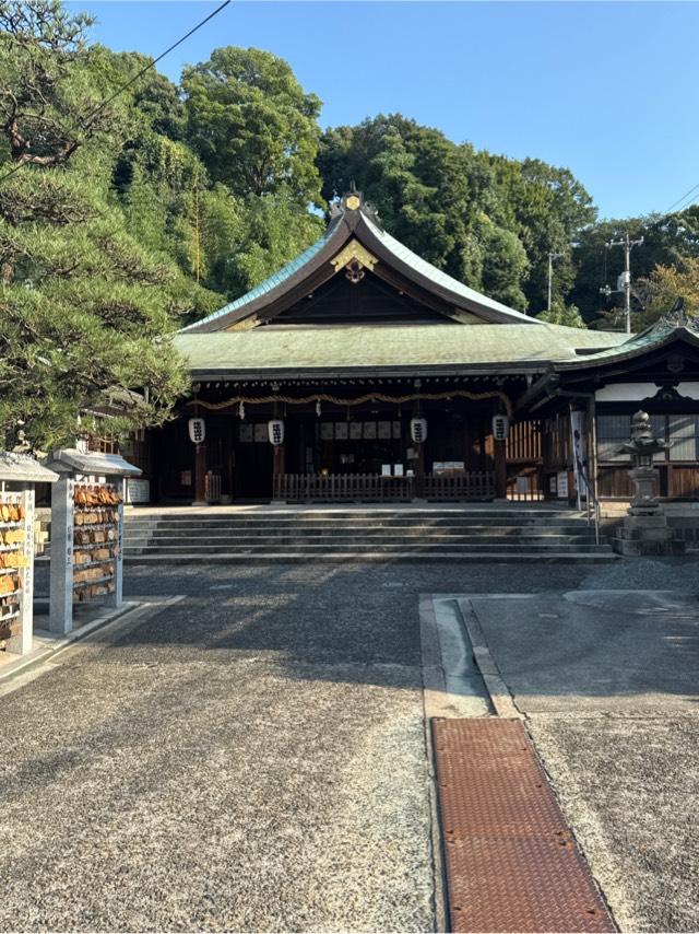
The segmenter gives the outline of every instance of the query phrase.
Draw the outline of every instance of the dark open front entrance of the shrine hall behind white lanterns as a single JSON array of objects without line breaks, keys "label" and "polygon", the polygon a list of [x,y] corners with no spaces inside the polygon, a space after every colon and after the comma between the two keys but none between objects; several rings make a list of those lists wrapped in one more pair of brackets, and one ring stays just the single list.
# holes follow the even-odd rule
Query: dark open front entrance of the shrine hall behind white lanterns
[{"label": "dark open front entrance of the shrine hall behind white lanterns", "polygon": [[[490,398],[427,400],[418,409],[311,402],[204,411],[208,502],[484,500],[497,492]],[[427,430],[422,442],[411,430],[416,411]],[[269,436],[275,412],[284,423],[277,447]],[[154,448],[156,501],[194,499],[198,462],[185,420],[166,425]]]}]

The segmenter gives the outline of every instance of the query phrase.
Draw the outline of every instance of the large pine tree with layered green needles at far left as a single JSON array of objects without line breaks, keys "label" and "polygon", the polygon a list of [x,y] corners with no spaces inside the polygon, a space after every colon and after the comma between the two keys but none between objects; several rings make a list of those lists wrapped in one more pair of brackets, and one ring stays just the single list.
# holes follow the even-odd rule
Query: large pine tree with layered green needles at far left
[{"label": "large pine tree with layered green needles at far left", "polygon": [[0,431],[35,448],[91,410],[119,410],[112,431],[158,423],[187,385],[165,337],[186,290],[111,203],[128,119],[95,113],[110,82],[87,26],[55,0],[0,3]]}]

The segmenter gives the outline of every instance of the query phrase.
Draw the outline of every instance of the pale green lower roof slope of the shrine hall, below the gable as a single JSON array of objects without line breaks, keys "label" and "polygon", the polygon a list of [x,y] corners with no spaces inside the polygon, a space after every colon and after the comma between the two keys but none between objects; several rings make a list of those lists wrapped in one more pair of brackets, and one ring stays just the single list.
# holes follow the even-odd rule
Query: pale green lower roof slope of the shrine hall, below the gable
[{"label": "pale green lower roof slope of the shrine hall, below the gable", "polygon": [[[253,328],[179,334],[175,346],[194,374],[300,375],[318,371],[443,369],[543,371],[576,359],[576,348],[603,349],[626,335],[543,324],[400,325]],[[585,358],[580,358],[585,359]]]}]

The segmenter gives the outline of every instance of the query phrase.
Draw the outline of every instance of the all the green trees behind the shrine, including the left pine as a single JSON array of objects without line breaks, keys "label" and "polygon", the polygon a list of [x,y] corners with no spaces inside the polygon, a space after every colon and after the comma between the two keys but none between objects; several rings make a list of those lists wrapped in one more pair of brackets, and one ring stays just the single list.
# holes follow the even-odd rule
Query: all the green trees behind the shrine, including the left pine
[{"label": "all the green trees behind the shrine, including the left pine", "polygon": [[618,326],[619,296],[600,288],[623,262],[605,242],[627,231],[645,238],[635,325],[677,295],[699,307],[699,208],[600,222],[584,186],[538,159],[400,114],[322,130],[320,100],[268,51],[214,49],[176,85],[91,43],[91,25],[58,0],[0,0],[0,428],[14,441],[48,445],[110,404],[123,430],[167,418],[186,378],[166,335],[308,246],[353,184],[406,245],[529,314]]}]

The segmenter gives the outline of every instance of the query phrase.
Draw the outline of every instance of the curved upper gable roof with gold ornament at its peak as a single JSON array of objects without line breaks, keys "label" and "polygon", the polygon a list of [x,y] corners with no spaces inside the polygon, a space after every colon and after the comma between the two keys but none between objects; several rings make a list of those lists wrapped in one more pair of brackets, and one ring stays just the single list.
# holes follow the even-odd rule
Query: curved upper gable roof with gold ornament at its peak
[{"label": "curved upper gable roof with gold ornament at its peak", "polygon": [[341,275],[347,267],[333,265],[333,259],[355,243],[358,247],[353,261],[357,261],[358,256],[362,267],[364,248],[369,254],[371,265],[368,268],[374,275],[384,278],[396,289],[412,288],[415,294],[428,296],[439,303],[449,317],[458,320],[461,313],[487,324],[543,324],[470,289],[417,256],[382,230],[372,209],[359,195],[353,194],[334,207],[325,233],[305,253],[247,294],[182,330],[201,334],[230,330],[245,326],[244,323],[264,324],[333,276]]}]

